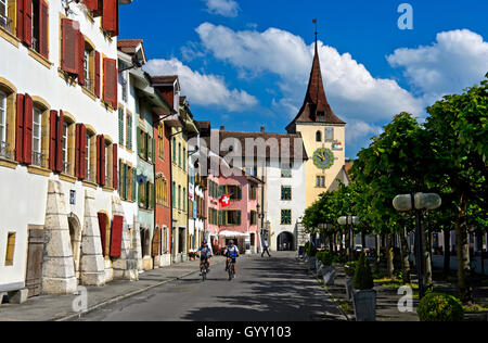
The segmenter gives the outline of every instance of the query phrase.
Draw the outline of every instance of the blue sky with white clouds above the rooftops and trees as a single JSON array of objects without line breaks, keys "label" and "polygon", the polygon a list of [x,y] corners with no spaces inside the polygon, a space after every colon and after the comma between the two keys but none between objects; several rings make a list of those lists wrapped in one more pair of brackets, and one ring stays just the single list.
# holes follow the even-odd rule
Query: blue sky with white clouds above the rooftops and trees
[{"label": "blue sky with white clouds above the rooftops and trees", "polygon": [[[400,29],[399,5],[411,5]],[[180,76],[197,120],[285,132],[303,105],[314,48],[354,158],[401,112],[420,122],[488,73],[488,1],[134,0],[119,39],[143,39],[151,75]],[[401,23],[407,23],[403,20]]]}]

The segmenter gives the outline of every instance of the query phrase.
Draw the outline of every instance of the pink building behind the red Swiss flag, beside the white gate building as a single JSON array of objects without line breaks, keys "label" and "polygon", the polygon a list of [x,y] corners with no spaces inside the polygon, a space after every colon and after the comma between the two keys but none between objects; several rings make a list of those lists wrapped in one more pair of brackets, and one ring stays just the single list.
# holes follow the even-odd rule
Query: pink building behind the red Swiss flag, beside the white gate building
[{"label": "pink building behind the red Swiss flag, beside the white gate building", "polygon": [[[257,252],[259,246],[258,202],[262,181],[235,169],[237,176],[207,177],[207,219],[214,253],[220,253],[232,239],[242,253]],[[241,174],[241,176],[239,176]],[[222,207],[219,199],[230,194],[230,206]]]}]

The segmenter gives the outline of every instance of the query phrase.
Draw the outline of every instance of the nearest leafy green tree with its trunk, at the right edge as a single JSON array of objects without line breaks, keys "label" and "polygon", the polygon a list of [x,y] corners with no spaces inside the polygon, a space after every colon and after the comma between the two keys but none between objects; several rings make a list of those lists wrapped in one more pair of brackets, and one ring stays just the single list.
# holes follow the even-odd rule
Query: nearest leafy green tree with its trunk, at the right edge
[{"label": "nearest leafy green tree with its trunk, at the right edge", "polygon": [[461,301],[470,303],[473,301],[470,211],[473,207],[486,208],[488,194],[488,79],[462,94],[445,97],[427,112],[428,148],[435,153],[429,165],[429,178],[454,195],[455,216],[452,221],[457,233],[458,289]]}]

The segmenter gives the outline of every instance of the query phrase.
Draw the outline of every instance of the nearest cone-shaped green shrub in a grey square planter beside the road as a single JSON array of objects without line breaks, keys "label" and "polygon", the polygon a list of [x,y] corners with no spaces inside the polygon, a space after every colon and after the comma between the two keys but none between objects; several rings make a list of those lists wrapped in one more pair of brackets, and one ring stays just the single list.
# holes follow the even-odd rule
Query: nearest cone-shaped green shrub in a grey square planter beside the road
[{"label": "nearest cone-shaped green shrub in a grey square planter beside the road", "polygon": [[354,279],[355,315],[357,321],[376,320],[376,291],[373,290],[374,281],[370,265],[364,252],[359,257]]}]

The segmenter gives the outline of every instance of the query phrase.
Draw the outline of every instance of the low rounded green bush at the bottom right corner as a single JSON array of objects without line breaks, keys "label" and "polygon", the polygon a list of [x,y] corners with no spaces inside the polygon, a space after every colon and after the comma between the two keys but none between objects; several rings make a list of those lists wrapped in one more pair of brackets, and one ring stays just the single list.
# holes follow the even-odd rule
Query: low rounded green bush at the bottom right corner
[{"label": "low rounded green bush at the bottom right corner", "polygon": [[464,309],[461,302],[452,295],[428,293],[419,304],[421,321],[463,321]]}]

